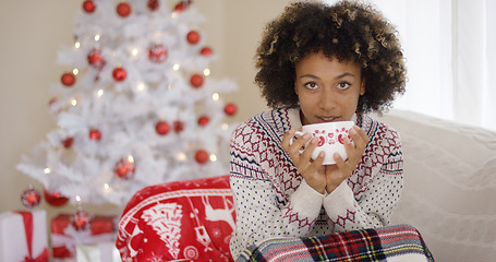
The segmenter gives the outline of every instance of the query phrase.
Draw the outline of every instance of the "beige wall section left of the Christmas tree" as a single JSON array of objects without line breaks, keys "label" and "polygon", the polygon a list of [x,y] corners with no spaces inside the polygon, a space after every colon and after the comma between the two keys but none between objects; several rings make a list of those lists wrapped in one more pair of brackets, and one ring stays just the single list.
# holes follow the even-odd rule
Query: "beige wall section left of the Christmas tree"
[{"label": "beige wall section left of the Christmas tree", "polygon": [[0,211],[19,210],[28,183],[15,169],[22,154],[55,128],[47,110],[49,83],[60,78],[57,49],[72,41],[77,1],[0,2]]}]

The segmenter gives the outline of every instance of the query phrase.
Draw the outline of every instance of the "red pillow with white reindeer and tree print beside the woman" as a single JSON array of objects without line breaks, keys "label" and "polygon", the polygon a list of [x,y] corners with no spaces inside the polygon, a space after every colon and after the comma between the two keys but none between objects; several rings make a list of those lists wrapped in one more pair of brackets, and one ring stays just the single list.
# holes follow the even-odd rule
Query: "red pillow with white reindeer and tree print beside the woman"
[{"label": "red pillow with white reindeer and tree print beside the woman", "polygon": [[123,261],[233,261],[234,219],[229,176],[150,186],[128,203],[116,246]]}]

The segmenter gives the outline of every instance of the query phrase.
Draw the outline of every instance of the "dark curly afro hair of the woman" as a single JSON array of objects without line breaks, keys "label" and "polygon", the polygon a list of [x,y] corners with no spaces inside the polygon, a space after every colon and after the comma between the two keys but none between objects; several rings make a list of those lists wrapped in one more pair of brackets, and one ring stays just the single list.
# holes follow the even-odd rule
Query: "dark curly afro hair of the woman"
[{"label": "dark curly afro hair of the woman", "polygon": [[358,114],[383,112],[404,93],[407,69],[397,31],[358,2],[295,2],[269,22],[256,50],[255,83],[270,108],[295,107],[294,66],[311,52],[361,66],[365,94]]}]

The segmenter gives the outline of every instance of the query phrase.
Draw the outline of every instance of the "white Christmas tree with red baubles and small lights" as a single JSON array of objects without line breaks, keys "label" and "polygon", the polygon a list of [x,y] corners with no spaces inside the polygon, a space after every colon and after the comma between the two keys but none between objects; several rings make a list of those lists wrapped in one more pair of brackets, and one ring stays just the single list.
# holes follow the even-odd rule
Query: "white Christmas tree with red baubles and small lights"
[{"label": "white Christmas tree with red baubles and small lights", "polygon": [[59,127],[17,169],[57,198],[118,205],[148,184],[227,174],[235,105],[221,95],[237,85],[209,78],[203,21],[192,1],[84,1],[50,90]]}]

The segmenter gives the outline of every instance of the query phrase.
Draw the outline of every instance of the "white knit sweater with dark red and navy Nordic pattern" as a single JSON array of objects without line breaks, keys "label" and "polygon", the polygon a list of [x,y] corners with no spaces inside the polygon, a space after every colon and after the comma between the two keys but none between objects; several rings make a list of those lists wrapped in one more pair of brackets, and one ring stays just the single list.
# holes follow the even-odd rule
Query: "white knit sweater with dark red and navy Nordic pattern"
[{"label": "white knit sweater with dark red and navy Nordic pattern", "polygon": [[311,188],[281,146],[302,123],[300,108],[262,112],[240,124],[231,139],[230,183],[237,226],[233,258],[275,237],[322,236],[389,224],[403,184],[398,133],[368,116],[355,119],[370,142],[358,168],[329,194]]}]

